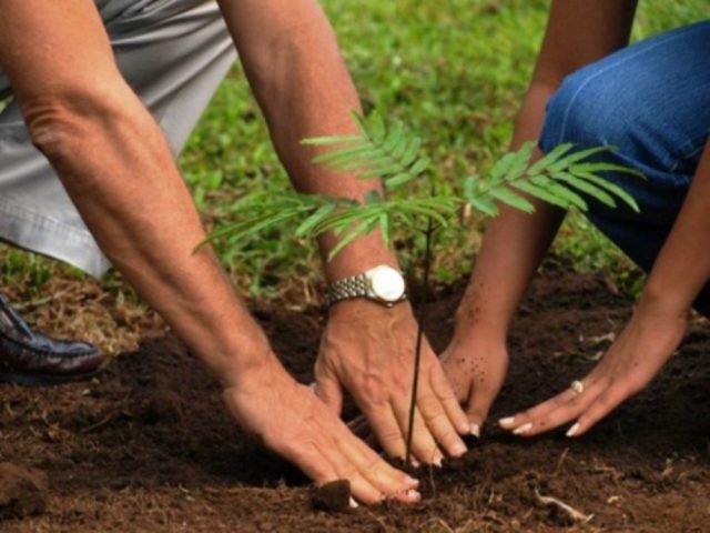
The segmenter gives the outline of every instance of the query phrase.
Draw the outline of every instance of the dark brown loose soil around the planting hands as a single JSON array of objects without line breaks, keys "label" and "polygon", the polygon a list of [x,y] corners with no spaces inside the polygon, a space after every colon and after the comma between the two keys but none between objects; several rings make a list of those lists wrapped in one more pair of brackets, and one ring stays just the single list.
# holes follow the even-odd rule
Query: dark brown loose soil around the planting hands
[{"label": "dark brown loose soil around the planting hands", "polygon": [[[429,305],[437,349],[462,290],[443,289]],[[322,310],[253,309],[308,381]],[[601,278],[536,280],[491,420],[584,375],[629,311]],[[215,381],[178,341],[146,341],[89,383],[0,385],[0,461],[50,480],[43,514],[0,531],[710,531],[708,352],[710,328],[698,320],[653,384],[585,438],[520,440],[490,424],[464,460],[420,472],[422,504],[328,513],[314,510],[298,472],[231,422]],[[594,516],[575,525],[546,497]]]}]

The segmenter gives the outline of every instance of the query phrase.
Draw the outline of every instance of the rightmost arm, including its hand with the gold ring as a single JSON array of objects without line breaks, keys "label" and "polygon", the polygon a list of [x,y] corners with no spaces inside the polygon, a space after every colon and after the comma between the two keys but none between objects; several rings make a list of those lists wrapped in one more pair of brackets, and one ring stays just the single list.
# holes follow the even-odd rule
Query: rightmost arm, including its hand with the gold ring
[{"label": "rightmost arm, including its hand with the gold ring", "polygon": [[579,436],[642,390],[680,344],[693,300],[710,280],[710,142],[631,320],[592,371],[571,389],[501,421],[524,436],[575,421]]}]

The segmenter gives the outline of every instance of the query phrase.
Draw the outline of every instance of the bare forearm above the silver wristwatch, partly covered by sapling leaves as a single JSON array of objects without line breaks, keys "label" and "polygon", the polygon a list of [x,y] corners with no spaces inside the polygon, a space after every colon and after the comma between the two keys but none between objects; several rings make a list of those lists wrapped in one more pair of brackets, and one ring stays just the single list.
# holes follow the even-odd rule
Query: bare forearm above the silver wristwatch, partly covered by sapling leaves
[{"label": "bare forearm above the silver wristwatch, partly covered by sapling leaves", "polygon": [[[357,200],[368,191],[382,191],[378,180],[359,180],[355,174],[314,164],[317,150],[301,144],[310,137],[356,133],[352,112],[361,110],[335,34],[321,8],[313,1],[293,2],[285,9],[283,2],[265,2],[257,13],[248,4],[237,7],[223,1],[222,9],[274,145],[295,188]],[[241,24],[250,16],[268,19],[261,27],[256,44],[252,43],[251,28]],[[264,47],[263,42],[270,46]],[[325,261],[336,242],[333,234],[320,240],[329,279],[353,275],[379,263],[396,264],[394,252],[385,247],[378,232],[355,240],[332,262]]]}]

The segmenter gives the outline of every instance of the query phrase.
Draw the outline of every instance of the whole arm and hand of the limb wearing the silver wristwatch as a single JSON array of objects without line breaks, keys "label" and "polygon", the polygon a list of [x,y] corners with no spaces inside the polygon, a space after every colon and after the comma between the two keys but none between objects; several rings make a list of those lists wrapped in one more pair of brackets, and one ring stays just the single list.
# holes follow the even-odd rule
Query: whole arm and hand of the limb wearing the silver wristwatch
[{"label": "whole arm and hand of the limb wearing the silver wristwatch", "polygon": [[[222,0],[220,4],[295,187],[357,200],[373,189],[382,191],[378,180],[358,180],[314,165],[311,160],[316,152],[300,144],[308,137],[356,132],[351,112],[361,109],[317,2]],[[357,239],[327,262],[325,257],[335,243],[335,235],[320,242],[329,281],[382,263],[397,265],[394,252],[376,232]],[[353,328],[354,323],[358,326]],[[393,456],[404,456],[405,451],[415,336],[416,322],[406,302],[385,309],[362,299],[342,301],[331,310],[315,368],[318,395],[339,412],[343,389],[347,389]],[[458,433],[468,433],[469,426],[428,344],[422,374],[426,379],[417,402],[420,416],[414,451],[422,461],[439,462],[439,447],[452,455],[466,451]]]}]

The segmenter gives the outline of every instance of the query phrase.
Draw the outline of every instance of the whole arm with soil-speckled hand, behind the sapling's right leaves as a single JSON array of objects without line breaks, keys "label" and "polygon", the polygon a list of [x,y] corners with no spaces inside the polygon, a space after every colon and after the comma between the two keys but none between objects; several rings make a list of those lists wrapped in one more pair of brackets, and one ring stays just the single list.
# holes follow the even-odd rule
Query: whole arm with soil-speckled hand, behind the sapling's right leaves
[{"label": "whole arm with soil-speckled hand, behind the sapling's right leaves", "polygon": [[[552,2],[542,48],[513,148],[539,137],[545,105],[562,79],[580,67],[626,46],[635,0],[557,0]],[[539,155],[539,154],[538,154]],[[527,284],[549,248],[565,213],[529,199],[535,213],[500,207],[488,224],[474,272],[456,315],[445,352],[445,369],[469,420],[480,424],[500,390],[507,370],[505,346],[510,320]]]}]

